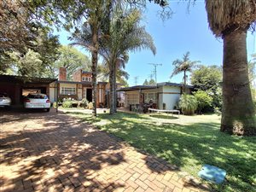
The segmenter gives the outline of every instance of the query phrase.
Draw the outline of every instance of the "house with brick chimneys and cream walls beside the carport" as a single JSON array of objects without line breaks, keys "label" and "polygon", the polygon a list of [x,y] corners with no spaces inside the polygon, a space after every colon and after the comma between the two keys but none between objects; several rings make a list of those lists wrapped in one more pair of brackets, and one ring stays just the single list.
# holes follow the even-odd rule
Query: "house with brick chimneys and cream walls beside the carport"
[{"label": "house with brick chimneys and cream walls beside the carport", "polygon": [[[108,83],[97,82],[97,101],[96,106],[100,108],[108,105]],[[58,81],[58,95],[59,99],[73,98],[76,100],[82,100],[86,98],[88,102],[92,102],[92,73],[79,69],[73,73],[73,80],[67,80],[67,69],[60,67],[59,81]],[[50,101],[53,96],[53,84],[50,90]]]}]

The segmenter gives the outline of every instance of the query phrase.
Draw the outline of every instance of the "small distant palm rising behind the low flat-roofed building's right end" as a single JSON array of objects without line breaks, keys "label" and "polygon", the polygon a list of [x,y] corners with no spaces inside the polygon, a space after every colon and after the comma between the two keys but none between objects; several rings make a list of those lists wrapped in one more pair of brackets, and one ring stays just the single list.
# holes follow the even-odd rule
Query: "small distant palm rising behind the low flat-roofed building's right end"
[{"label": "small distant palm rising behind the low flat-roofed building's right end", "polygon": [[186,85],[187,85],[187,74],[188,72],[192,72],[193,67],[195,67],[196,63],[200,61],[189,61],[189,51],[183,55],[183,60],[175,60],[172,62],[174,66],[171,78],[174,75],[179,73],[183,73],[183,92],[186,93]]}]

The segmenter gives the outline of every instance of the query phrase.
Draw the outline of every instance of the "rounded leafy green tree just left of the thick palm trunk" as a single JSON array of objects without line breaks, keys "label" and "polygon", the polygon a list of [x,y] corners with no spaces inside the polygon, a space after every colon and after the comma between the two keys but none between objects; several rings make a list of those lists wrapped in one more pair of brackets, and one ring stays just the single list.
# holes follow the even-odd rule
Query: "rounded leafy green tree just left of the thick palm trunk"
[{"label": "rounded leafy green tree just left of the thick palm trunk", "polygon": [[212,108],[221,108],[222,91],[222,69],[218,66],[199,66],[191,73],[191,84],[195,90],[205,90],[212,96]]}]

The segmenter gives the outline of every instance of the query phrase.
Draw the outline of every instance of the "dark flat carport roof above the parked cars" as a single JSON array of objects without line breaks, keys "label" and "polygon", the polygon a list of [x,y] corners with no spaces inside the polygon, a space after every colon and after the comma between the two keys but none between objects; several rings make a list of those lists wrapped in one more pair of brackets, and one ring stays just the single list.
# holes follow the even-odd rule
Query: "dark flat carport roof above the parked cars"
[{"label": "dark flat carport roof above the parked cars", "polygon": [[31,78],[25,76],[16,76],[16,75],[0,75],[0,82],[11,82],[11,83],[32,83],[32,84],[50,84],[57,81],[57,79],[50,78]]}]

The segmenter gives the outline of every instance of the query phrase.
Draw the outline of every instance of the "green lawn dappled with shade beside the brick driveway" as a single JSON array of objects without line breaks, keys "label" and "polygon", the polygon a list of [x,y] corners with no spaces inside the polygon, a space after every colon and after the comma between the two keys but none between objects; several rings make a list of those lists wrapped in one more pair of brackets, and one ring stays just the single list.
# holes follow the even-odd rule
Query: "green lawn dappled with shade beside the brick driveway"
[{"label": "green lawn dappled with shade beside the brick driveway", "polygon": [[218,191],[256,191],[256,137],[236,137],[219,131],[220,117],[211,115],[149,116],[117,113],[110,116],[67,112],[132,146],[155,154],[197,177],[203,164],[227,171]]}]

